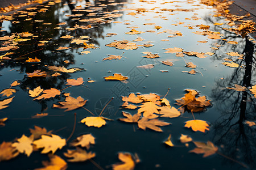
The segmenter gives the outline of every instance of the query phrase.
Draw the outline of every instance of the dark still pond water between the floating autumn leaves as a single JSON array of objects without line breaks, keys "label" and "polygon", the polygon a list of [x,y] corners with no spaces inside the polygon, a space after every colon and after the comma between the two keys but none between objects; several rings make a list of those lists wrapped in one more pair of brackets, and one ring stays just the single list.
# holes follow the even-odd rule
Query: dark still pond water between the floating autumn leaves
[{"label": "dark still pond water between the floating autumn leaves", "polygon": [[[17,92],[13,95],[14,100],[9,107],[0,111],[0,118],[8,117],[6,126],[0,127],[0,142],[13,141],[15,138],[20,138],[22,134],[30,135],[30,128],[34,125],[44,127],[47,130],[53,130],[53,133],[60,135],[62,138],[68,138],[73,129],[74,113],[77,113],[76,130],[71,141],[82,134],[91,133],[96,138],[96,145],[90,148],[90,151],[96,152],[94,162],[99,164],[104,169],[110,169],[113,163],[119,162],[117,159],[118,152],[137,153],[141,159],[141,163],[137,164],[135,169],[246,169],[240,164],[230,161],[220,155],[214,154],[207,158],[202,158],[202,155],[188,153],[195,146],[189,143],[189,147],[185,147],[179,141],[180,134],[189,134],[194,141],[207,142],[212,141],[214,145],[219,147],[219,151],[230,158],[246,164],[250,169],[255,169],[255,126],[249,127],[245,124],[246,120],[255,121],[255,97],[250,94],[249,90],[238,92],[229,90],[226,87],[234,87],[234,84],[239,84],[247,88],[251,88],[255,83],[255,56],[254,44],[248,39],[242,39],[240,36],[233,33],[223,31],[219,26],[213,25],[214,22],[221,23],[223,18],[210,16],[213,11],[210,7],[199,5],[195,1],[193,3],[174,2],[160,4],[158,1],[152,4],[142,3],[137,1],[115,1],[127,2],[113,5],[111,1],[94,1],[93,6],[86,9],[93,9],[96,16],[86,16],[90,12],[72,11],[76,6],[82,5],[85,7],[85,2],[76,2],[76,4],[67,4],[67,2],[55,3],[55,5],[37,6],[47,8],[46,12],[37,12],[30,21],[25,19],[28,16],[19,17],[20,14],[14,14],[14,20],[4,21],[2,23],[2,36],[11,33],[29,32],[33,33],[32,40],[19,42],[19,49],[14,50],[15,54],[8,61],[1,61],[0,65],[0,82],[1,90],[10,87],[10,83],[14,80],[20,80],[20,85],[13,87]],[[164,2],[164,1],[163,1]],[[131,4],[130,4],[131,3]],[[110,4],[110,5],[108,5]],[[177,7],[178,5],[180,7]],[[96,7],[103,7],[102,9]],[[193,8],[193,11],[160,11],[160,8],[150,10],[154,7],[160,8]],[[149,11],[135,16],[127,15],[135,10],[125,10],[127,8],[146,8]],[[88,25],[81,23],[73,18],[98,18],[104,15],[106,11],[116,11],[115,14],[123,14],[118,18],[105,19],[112,23],[97,24],[92,23],[95,28],[91,29],[76,29],[68,31],[65,28],[71,28],[76,24]],[[27,10],[25,10],[27,11]],[[159,11],[156,13],[156,11]],[[91,12],[91,13],[92,13]],[[114,11],[115,12],[115,11]],[[22,13],[22,12],[20,12]],[[84,14],[84,16],[68,17],[65,15]],[[170,15],[174,14],[174,15]],[[196,15],[201,19],[187,20]],[[162,18],[166,17],[166,18]],[[162,18],[162,19],[161,19]],[[148,20],[151,19],[151,20]],[[35,20],[43,20],[43,22],[35,22]],[[12,23],[18,21],[19,23]],[[113,23],[119,21],[122,23]],[[57,25],[58,23],[67,22],[65,25]],[[172,25],[176,22],[185,22],[181,25]],[[52,23],[44,25],[43,23]],[[130,23],[129,25],[123,23]],[[143,23],[156,23],[162,26],[159,30],[154,28],[154,25],[143,25]],[[197,24],[210,25],[210,30],[221,32],[222,39],[228,41],[237,41],[237,45],[228,44],[226,41],[211,40],[207,36],[196,35],[194,31],[202,31]],[[191,25],[195,29],[188,29],[184,25]],[[144,31],[141,35],[126,35],[131,28],[138,31]],[[61,27],[61,29],[53,29]],[[160,33],[165,29],[181,31],[183,36],[168,37],[168,33]],[[155,33],[145,32],[146,30],[154,30]],[[117,33],[117,36],[107,37],[106,33]],[[90,54],[80,54],[83,50],[83,45],[70,44],[70,39],[61,39],[60,36],[71,35],[74,37],[89,36],[88,44],[93,43],[99,49],[88,49]],[[147,41],[152,41],[154,44],[150,48],[139,47],[137,50],[122,50],[113,47],[105,46],[114,40],[135,40],[137,37],[142,37],[144,41],[136,42],[137,44],[148,44]],[[25,37],[26,38],[26,37]],[[169,39],[170,41],[161,41]],[[206,40],[206,44],[197,42]],[[47,40],[43,46],[38,46],[38,41]],[[4,41],[2,41],[4,42]],[[221,46],[218,50],[213,50],[210,47],[214,43]],[[57,51],[59,46],[71,46],[69,50]],[[183,48],[185,51],[195,52],[213,52],[213,56],[207,58],[197,58],[185,56],[186,62],[193,62],[197,65],[195,75],[182,73],[181,71],[190,71],[185,67],[185,62],[181,57],[176,57],[175,54],[168,54],[166,48]],[[164,48],[164,49],[163,49]],[[38,51],[36,51],[38,50]],[[149,59],[143,58],[142,52],[150,51],[158,53],[160,58]],[[30,53],[33,52],[33,53]],[[112,61],[102,61],[102,58],[108,54],[121,55],[126,58]],[[229,56],[226,52],[238,52],[245,54],[245,59],[237,59],[236,63],[243,67],[231,68],[221,64],[224,58]],[[1,52],[2,56],[6,52]],[[30,54],[28,54],[30,53]],[[20,57],[25,55],[24,57]],[[25,58],[26,57],[26,58]],[[39,58],[39,63],[28,63],[26,59]],[[232,58],[232,57],[229,57]],[[174,62],[174,66],[170,67],[163,65],[161,61],[170,60]],[[69,63],[65,63],[69,60]],[[152,69],[139,69],[137,66],[154,64]],[[79,67],[86,71],[77,71],[76,73],[62,73],[60,76],[47,76],[47,78],[34,77],[29,78],[26,73],[32,73],[34,70],[47,70],[47,66],[64,66],[65,68]],[[168,73],[162,73],[160,70],[169,70]],[[199,73],[201,72],[201,73]],[[104,76],[113,75],[114,73],[122,73],[129,76],[128,83],[117,81],[105,81]],[[107,121],[106,126],[102,128],[88,127],[79,123],[82,118],[90,116],[90,113],[82,108],[75,111],[64,112],[63,109],[52,108],[57,101],[63,101],[63,95],[46,100],[33,100],[28,96],[28,90],[40,86],[41,88],[57,88],[59,90],[67,87],[65,85],[67,79],[76,79],[82,77],[85,80],[86,88],[81,86],[69,87],[64,92],[69,92],[72,97],[81,96],[87,99],[88,102],[85,108],[89,111],[99,114],[106,103],[114,97],[109,107],[105,110],[103,116],[113,119]],[[93,79],[96,82],[86,83],[87,79]],[[224,79],[221,79],[224,78]],[[122,117],[120,109],[122,101],[121,96],[127,96],[131,92],[140,92],[141,94],[155,93],[164,96],[170,88],[167,99],[171,105],[175,105],[175,99],[183,97],[184,89],[190,88],[200,92],[200,96],[207,96],[207,99],[212,101],[212,107],[207,108],[207,111],[195,113],[195,117],[199,120],[205,120],[210,124],[210,130],[206,133],[200,131],[194,132],[191,129],[184,128],[184,122],[192,120],[191,113],[185,112],[183,117],[178,118],[160,118],[166,122],[171,122],[172,125],[163,126],[163,133],[158,133],[147,129],[143,131],[137,129],[137,125],[126,124],[118,121],[117,118]],[[1,97],[1,100],[6,97]],[[137,111],[123,110],[132,114]],[[36,113],[48,113],[49,116],[43,118],[31,118]],[[188,117],[188,118],[187,118]],[[172,134],[172,142],[176,147],[168,147],[163,144],[163,141]],[[70,141],[69,141],[70,142]],[[56,152],[61,158],[65,159],[63,152],[66,152],[71,147],[65,146]],[[20,154],[15,159],[1,162],[0,169],[34,169],[42,167],[42,160],[48,160],[47,154],[40,154],[35,151],[29,158],[26,155]],[[66,159],[65,159],[66,160]],[[91,162],[68,163],[68,169],[97,169]]]}]

